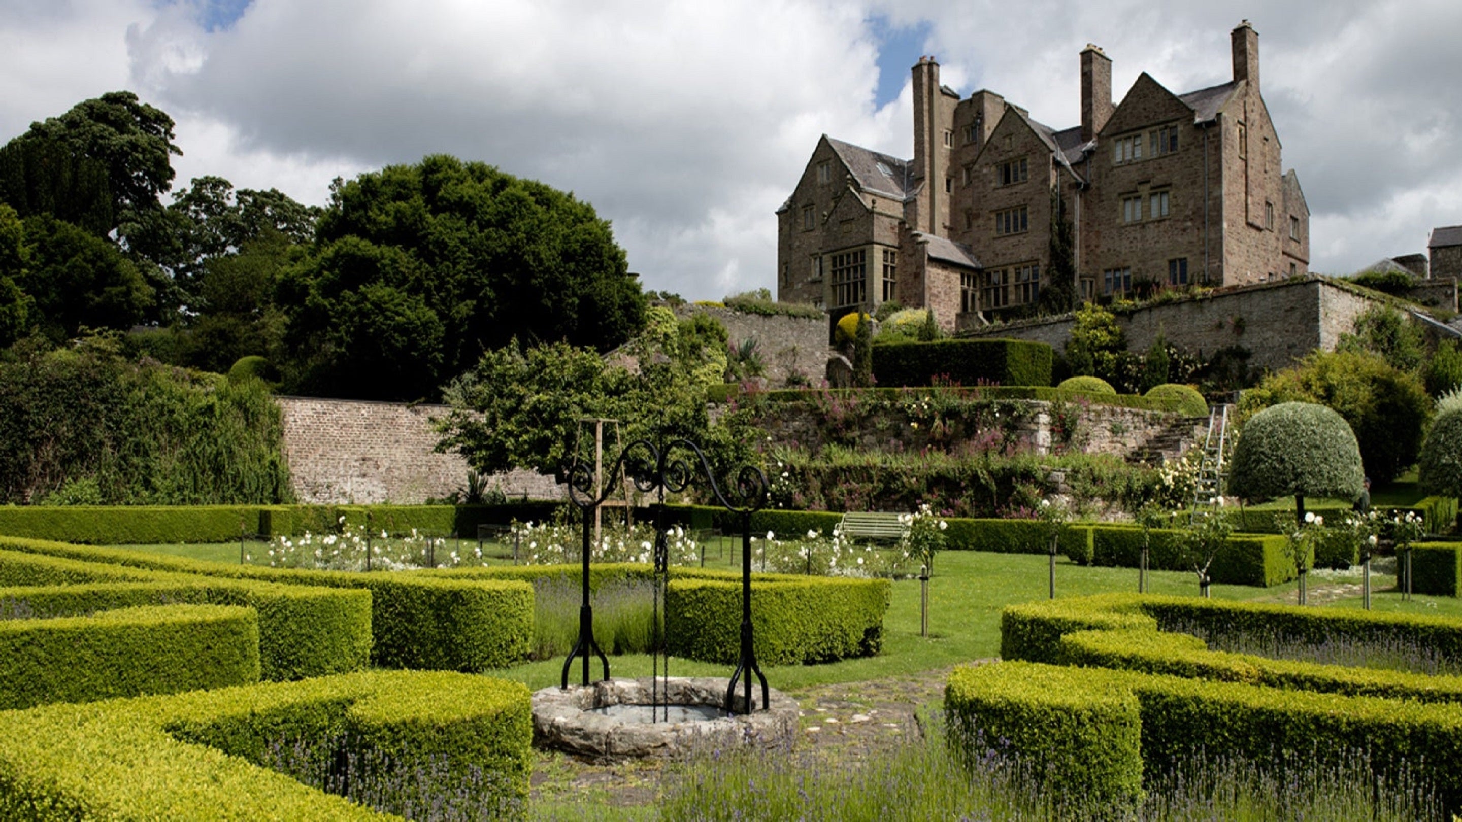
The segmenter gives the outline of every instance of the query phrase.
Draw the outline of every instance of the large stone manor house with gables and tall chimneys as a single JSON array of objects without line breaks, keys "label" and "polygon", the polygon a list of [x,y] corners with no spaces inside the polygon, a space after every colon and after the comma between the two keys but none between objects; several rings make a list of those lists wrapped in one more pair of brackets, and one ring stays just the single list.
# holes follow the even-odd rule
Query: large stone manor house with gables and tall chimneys
[{"label": "large stone manor house with gables and tall chimneys", "polygon": [[1053,212],[1085,298],[1306,274],[1310,212],[1260,95],[1259,34],[1244,20],[1231,39],[1232,80],[1174,94],[1143,73],[1116,105],[1088,45],[1080,124],[1061,130],[991,91],[961,99],[920,59],[914,159],[823,135],[776,212],[778,298],[833,319],[898,300],[977,328],[1050,285]]}]

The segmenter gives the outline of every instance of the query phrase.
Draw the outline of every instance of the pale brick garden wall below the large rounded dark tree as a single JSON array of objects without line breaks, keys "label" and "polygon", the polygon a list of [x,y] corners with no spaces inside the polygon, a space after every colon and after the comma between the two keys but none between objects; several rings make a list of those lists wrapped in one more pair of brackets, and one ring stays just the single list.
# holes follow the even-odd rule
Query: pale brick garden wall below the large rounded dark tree
[{"label": "pale brick garden wall below the large rounded dark tree", "polygon": [[[458,453],[433,453],[431,418],[444,405],[278,396],[295,496],[310,503],[414,505],[466,484]],[[509,497],[561,499],[553,477],[512,471],[488,480]]]}]

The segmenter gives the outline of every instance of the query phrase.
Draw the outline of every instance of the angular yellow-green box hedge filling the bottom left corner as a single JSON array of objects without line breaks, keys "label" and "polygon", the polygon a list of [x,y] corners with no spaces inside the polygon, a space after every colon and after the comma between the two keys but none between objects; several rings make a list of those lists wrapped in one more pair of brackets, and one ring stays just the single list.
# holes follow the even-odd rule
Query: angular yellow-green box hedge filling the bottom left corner
[{"label": "angular yellow-green box hedge filling the bottom left corner", "polygon": [[48,705],[0,714],[0,818],[382,819],[333,778],[386,813],[523,819],[531,743],[523,685],[440,671]]}]

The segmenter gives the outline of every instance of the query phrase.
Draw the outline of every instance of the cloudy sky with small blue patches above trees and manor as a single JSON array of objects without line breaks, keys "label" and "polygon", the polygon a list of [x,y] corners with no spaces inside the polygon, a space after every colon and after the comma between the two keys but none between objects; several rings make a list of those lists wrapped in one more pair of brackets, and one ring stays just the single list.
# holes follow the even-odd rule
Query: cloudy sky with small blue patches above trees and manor
[{"label": "cloudy sky with small blue patches above trees and manor", "polygon": [[1260,34],[1313,212],[1311,268],[1462,224],[1456,0],[0,0],[0,140],[107,91],[177,120],[178,184],[325,203],[332,178],[447,152],[572,190],[646,288],[773,287],[775,209],[819,135],[909,157],[909,66],[1079,120],[1077,54],[1183,92]]}]

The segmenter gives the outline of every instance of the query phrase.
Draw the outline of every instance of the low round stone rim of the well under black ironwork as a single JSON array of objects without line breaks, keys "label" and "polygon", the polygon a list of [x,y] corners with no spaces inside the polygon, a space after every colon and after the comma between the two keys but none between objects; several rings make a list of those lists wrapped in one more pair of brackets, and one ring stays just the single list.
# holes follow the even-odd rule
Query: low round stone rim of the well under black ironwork
[{"label": "low round stone rim of the well under black ironwork", "polygon": [[[611,679],[534,693],[534,743],[595,761],[683,756],[696,749],[751,744],[789,746],[797,734],[797,701],[770,692],[770,709],[727,717],[721,709],[728,682],[716,677],[659,680],[662,708],[651,721],[651,680]],[[741,709],[743,686],[735,704]],[[762,687],[751,687],[760,702]],[[670,705],[670,721],[664,705]]]}]

